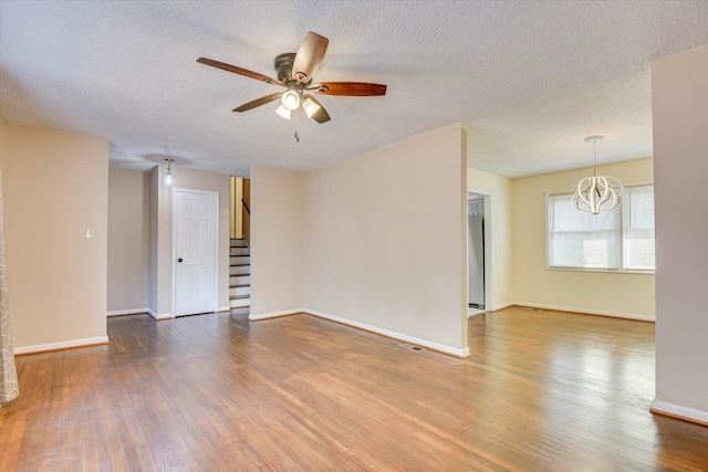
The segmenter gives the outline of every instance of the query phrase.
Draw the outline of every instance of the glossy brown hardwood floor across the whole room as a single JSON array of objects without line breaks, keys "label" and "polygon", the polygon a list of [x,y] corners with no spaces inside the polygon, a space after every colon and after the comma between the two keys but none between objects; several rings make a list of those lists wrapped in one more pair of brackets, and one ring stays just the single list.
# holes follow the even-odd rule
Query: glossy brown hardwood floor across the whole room
[{"label": "glossy brown hardwood floor across the whole room", "polygon": [[508,308],[467,359],[309,315],[108,336],[17,358],[1,471],[708,470],[708,428],[648,411],[650,323]]}]

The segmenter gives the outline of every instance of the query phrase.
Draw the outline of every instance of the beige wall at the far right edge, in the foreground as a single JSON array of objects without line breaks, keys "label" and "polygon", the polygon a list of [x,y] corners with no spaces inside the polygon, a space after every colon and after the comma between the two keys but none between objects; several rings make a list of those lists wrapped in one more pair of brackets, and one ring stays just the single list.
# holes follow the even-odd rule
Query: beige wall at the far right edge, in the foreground
[{"label": "beige wall at the far right edge, in the foreground", "polygon": [[708,423],[708,46],[652,63],[656,399]]}]

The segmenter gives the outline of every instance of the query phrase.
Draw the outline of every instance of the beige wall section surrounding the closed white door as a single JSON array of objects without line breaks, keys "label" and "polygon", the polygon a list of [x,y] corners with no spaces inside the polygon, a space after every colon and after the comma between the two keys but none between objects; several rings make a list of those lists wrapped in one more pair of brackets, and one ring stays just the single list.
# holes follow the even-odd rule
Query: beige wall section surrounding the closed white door
[{"label": "beige wall section surrounding the closed white door", "polygon": [[[150,310],[158,316],[171,316],[174,313],[173,294],[173,188],[215,191],[219,193],[219,268],[218,305],[229,306],[229,176],[201,170],[173,167],[175,181],[165,185],[162,175],[166,166],[150,171]],[[156,200],[156,201],[155,201]],[[155,210],[157,207],[157,218]],[[157,223],[155,225],[155,222]],[[156,227],[156,228],[155,228]],[[155,302],[153,302],[153,300]],[[154,307],[153,307],[154,306]]]}]

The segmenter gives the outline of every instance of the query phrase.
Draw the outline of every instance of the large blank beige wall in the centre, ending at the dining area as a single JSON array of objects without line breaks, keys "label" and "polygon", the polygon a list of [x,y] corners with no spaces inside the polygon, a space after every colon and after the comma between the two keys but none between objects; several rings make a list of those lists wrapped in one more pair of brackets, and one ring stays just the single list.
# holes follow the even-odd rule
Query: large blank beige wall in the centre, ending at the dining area
[{"label": "large blank beige wall in the centre, ending at the dining area", "polygon": [[467,348],[465,133],[448,125],[304,176],[305,307]]}]

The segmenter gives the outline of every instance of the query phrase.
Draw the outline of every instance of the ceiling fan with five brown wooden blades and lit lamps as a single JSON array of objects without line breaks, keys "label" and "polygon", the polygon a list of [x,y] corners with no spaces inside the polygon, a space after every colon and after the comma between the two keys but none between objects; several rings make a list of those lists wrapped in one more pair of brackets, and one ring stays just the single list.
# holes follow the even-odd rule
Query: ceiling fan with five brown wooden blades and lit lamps
[{"label": "ceiling fan with five brown wooden blades and lit lamps", "polygon": [[320,69],[329,43],[330,40],[312,31],[309,32],[302,41],[302,44],[300,44],[298,53],[288,52],[275,57],[274,66],[278,78],[212,59],[199,57],[197,62],[287,88],[284,92],[277,92],[244,103],[233,108],[233,112],[248,112],[257,106],[266,105],[280,98],[281,104],[275,113],[283,118],[290,119],[292,112],[302,106],[309,118],[317,123],[325,123],[330,120],[330,114],[315,97],[309,94],[310,92],[320,95],[344,96],[375,96],[386,94],[386,85],[382,84],[364,82],[319,82],[313,84],[312,78],[315,72],[317,72],[317,69]]}]

